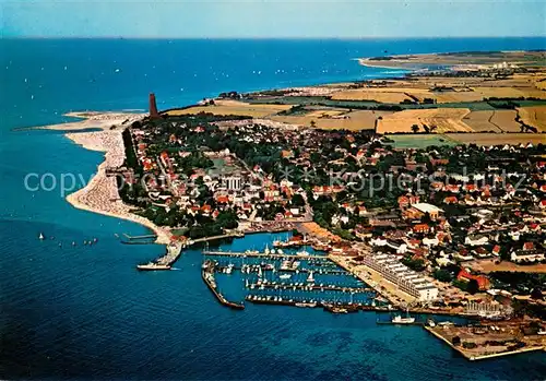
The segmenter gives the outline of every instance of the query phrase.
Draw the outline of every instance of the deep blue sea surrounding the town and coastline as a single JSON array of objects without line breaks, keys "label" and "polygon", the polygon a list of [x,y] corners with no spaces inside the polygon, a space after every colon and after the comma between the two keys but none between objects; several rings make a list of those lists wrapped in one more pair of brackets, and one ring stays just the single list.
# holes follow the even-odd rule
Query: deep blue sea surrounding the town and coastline
[{"label": "deep blue sea surrounding the town and coastline", "polygon": [[[144,109],[150,92],[168,108],[232,90],[400,75],[354,60],[384,50],[544,48],[544,38],[0,40],[0,378],[543,379],[544,354],[467,362],[420,328],[377,325],[375,313],[225,309],[201,279],[199,248],[185,252],[178,271],[138,273],[136,263],[164,249],[123,246],[114,234],[145,228],[74,210],[58,190],[24,187],[32,172],[88,178],[103,155],[60,132],[12,129],[67,120],[70,110]],[[82,245],[95,237],[96,246]],[[263,248],[273,238],[223,249]],[[221,286],[240,293],[240,284]]]}]

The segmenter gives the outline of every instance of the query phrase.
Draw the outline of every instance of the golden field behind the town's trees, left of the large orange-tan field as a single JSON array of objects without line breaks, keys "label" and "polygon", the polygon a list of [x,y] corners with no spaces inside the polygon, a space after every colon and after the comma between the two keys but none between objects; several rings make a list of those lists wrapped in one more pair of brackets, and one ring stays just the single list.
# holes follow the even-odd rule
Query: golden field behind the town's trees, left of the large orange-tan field
[{"label": "golden field behind the town's trees, left of the large orange-tan field", "polygon": [[[301,116],[272,116],[269,119],[289,124],[310,127],[314,126],[323,130],[373,130],[376,119],[392,115],[391,111],[359,110],[343,114],[343,111],[317,110]],[[327,117],[324,117],[327,116]]]}]

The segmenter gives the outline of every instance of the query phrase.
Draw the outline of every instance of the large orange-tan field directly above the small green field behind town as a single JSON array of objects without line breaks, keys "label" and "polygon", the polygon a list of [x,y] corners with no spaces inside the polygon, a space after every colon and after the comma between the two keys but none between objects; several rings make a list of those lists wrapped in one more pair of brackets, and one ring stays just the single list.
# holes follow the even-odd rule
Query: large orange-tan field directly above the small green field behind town
[{"label": "large orange-tan field directly above the small green field behind town", "polygon": [[470,114],[467,108],[438,108],[403,110],[383,117],[378,121],[378,133],[412,132],[412,126],[417,124],[419,132],[425,131],[423,126],[436,127],[435,132],[472,132],[472,128],[462,119]]}]

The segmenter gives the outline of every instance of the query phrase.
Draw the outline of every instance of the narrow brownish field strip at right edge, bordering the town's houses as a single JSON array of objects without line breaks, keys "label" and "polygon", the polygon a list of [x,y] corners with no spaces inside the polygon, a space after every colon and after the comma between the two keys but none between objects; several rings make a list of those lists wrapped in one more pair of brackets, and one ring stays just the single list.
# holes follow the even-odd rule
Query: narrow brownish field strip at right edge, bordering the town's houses
[{"label": "narrow brownish field strip at right edge, bordering the town's houses", "polygon": [[477,145],[546,143],[546,134],[542,133],[446,133],[444,136],[454,142]]}]

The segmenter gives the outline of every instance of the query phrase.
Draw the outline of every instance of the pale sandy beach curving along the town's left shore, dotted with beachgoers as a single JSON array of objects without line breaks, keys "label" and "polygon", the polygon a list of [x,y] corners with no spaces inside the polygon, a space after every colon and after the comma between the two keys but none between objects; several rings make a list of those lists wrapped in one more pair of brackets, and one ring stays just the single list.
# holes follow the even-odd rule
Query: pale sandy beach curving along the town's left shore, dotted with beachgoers
[{"label": "pale sandy beach curving along the town's left shore, dotted with beachgoers", "polygon": [[143,225],[157,235],[157,243],[168,243],[170,233],[144,217],[132,214],[131,207],[119,199],[116,177],[106,176],[106,168],[119,167],[123,164],[124,147],[121,130],[68,133],[66,136],[86,150],[106,152],[105,160],[98,166],[97,174],[85,188],[69,194],[67,201],[80,210]]}]

